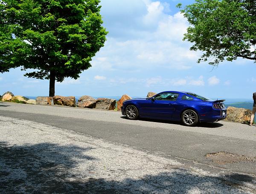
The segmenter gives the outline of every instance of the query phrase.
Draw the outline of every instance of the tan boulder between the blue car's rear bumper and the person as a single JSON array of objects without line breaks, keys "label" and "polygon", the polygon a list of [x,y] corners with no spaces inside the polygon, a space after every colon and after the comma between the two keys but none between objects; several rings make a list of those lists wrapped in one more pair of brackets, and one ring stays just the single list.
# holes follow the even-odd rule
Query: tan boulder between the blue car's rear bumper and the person
[{"label": "tan boulder between the blue car's rear bumper and the person", "polygon": [[249,123],[252,111],[245,108],[236,108],[229,106],[227,108],[226,120],[235,121],[239,123]]}]

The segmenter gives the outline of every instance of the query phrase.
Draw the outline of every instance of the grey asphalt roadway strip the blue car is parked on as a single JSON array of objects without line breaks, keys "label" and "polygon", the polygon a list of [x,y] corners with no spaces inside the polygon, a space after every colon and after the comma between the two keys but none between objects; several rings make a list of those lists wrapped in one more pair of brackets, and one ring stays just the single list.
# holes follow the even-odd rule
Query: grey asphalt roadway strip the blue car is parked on
[{"label": "grey asphalt roadway strip the blue car is parked on", "polygon": [[[240,180],[254,180],[256,176],[256,126],[220,121],[186,127],[177,122],[126,120],[119,111],[14,103],[0,103],[0,115],[129,145]],[[231,153],[234,158],[219,162],[221,158],[206,157],[217,152]]]}]

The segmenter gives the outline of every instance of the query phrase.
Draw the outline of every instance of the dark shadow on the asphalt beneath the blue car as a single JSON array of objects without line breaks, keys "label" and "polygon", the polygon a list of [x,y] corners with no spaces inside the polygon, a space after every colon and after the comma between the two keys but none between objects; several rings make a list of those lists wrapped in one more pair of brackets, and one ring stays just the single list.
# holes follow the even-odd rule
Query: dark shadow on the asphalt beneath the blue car
[{"label": "dark shadow on the asphalt beneath the blue car", "polygon": [[[122,119],[127,119],[125,116],[122,116],[121,118]],[[145,118],[139,118],[139,120],[148,121],[148,122],[154,122],[154,123],[169,123],[169,124],[183,126],[182,123],[178,122],[178,121],[158,120],[158,119],[145,119]],[[198,123],[198,125],[197,125],[197,127],[204,127],[204,128],[218,128],[218,127],[221,127],[221,126],[223,126],[223,124],[221,124],[221,123]]]}]

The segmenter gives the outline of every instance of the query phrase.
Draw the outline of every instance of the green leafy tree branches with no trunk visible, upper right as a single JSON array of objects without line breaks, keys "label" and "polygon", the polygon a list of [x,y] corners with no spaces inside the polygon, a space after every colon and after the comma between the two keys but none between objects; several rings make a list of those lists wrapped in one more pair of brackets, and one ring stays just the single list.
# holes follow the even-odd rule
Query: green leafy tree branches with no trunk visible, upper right
[{"label": "green leafy tree branches with no trunk visible, upper right", "polygon": [[183,40],[194,43],[190,50],[203,51],[198,63],[256,62],[256,0],[195,0],[181,12],[191,24]]}]

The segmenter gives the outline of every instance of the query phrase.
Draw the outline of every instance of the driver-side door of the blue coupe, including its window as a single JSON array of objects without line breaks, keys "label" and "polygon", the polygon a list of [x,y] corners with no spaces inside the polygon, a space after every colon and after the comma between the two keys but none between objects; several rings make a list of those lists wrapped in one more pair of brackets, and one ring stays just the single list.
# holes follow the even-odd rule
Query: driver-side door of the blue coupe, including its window
[{"label": "driver-side door of the blue coupe, including its window", "polygon": [[161,118],[172,118],[172,114],[175,113],[175,103],[178,97],[177,93],[163,92],[157,94],[151,103],[147,107],[148,116],[150,117],[161,117]]}]

